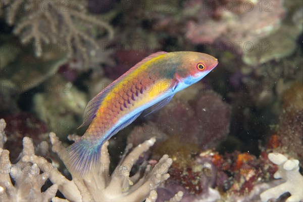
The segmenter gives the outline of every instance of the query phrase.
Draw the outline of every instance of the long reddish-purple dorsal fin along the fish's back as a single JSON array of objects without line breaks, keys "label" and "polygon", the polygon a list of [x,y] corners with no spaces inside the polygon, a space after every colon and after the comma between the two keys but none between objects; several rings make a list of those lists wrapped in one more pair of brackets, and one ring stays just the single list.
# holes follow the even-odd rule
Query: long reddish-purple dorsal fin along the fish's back
[{"label": "long reddish-purple dorsal fin along the fish's back", "polygon": [[83,123],[78,128],[81,128],[82,126],[87,126],[91,123],[92,119],[95,117],[97,113],[99,106],[101,105],[107,94],[111,92],[112,87],[114,87],[117,83],[120,83],[129,73],[134,71],[137,67],[139,67],[143,63],[166,53],[167,52],[164,51],[158,51],[156,53],[150,54],[149,56],[145,57],[143,60],[141,60],[140,62],[135,64],[132,68],[130,68],[128,71],[126,71],[122,76],[116,79],[112,84],[108,85],[105,89],[103,89],[100,93],[98,93],[94,98],[92,98],[84,109]]}]

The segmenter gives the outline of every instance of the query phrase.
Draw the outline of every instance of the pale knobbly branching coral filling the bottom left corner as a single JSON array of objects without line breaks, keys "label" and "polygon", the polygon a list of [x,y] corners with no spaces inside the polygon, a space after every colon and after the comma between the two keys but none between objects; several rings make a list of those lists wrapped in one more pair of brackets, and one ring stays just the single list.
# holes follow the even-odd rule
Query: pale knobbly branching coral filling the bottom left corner
[{"label": "pale knobbly branching coral filling the bottom left corner", "polygon": [[[36,164],[29,164],[22,158],[12,165],[9,153],[0,148],[0,201],[50,201],[56,195],[58,185],[54,184],[41,192],[49,173],[39,174]],[[25,137],[21,156],[28,155],[34,155],[34,146],[32,140]],[[15,181],[14,185],[11,178]]]}]

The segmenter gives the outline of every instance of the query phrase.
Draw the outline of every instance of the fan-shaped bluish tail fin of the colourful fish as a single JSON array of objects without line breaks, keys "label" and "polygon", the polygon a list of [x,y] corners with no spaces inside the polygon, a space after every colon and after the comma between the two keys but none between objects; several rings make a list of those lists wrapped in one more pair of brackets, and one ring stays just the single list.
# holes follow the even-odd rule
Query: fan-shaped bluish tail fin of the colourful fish
[{"label": "fan-shaped bluish tail fin of the colourful fish", "polygon": [[73,177],[84,178],[98,171],[101,146],[80,139],[63,151],[62,160]]}]

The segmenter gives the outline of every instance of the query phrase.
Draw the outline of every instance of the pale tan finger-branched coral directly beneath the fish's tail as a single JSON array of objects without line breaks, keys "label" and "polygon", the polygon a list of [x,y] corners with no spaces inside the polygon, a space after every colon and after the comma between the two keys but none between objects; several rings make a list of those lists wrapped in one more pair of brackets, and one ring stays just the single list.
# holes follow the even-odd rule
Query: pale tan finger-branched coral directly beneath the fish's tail
[{"label": "pale tan finger-branched coral directly beneath the fish's tail", "polygon": [[[54,133],[50,134],[50,138],[53,144],[53,151],[58,153],[60,156],[60,151],[64,148],[64,146],[61,144]],[[70,136],[69,138],[74,140],[78,139],[77,136]],[[168,155],[164,155],[153,169],[150,167],[150,165],[146,166],[145,172],[142,177],[140,177],[140,173],[136,173],[132,177],[129,177],[130,170],[133,164],[139,158],[140,154],[148,150],[150,146],[154,145],[155,141],[155,138],[151,138],[135,147],[130,153],[122,158],[111,176],[109,175],[110,158],[107,149],[109,142],[106,142],[101,149],[102,155],[100,161],[102,161],[101,165],[103,168],[100,168],[98,174],[86,179],[73,178],[72,181],[69,181],[73,182],[77,186],[81,194],[81,196],[78,196],[76,200],[144,200],[150,191],[155,190],[163,181],[169,178],[167,171],[172,164],[172,159],[169,158]],[[129,147],[127,149],[129,149]],[[53,181],[52,179],[51,181],[57,184],[56,181]],[[67,199],[75,200],[68,197],[68,195],[75,196],[75,194],[69,193],[67,189],[61,190],[60,186],[59,190],[66,196]]]}]

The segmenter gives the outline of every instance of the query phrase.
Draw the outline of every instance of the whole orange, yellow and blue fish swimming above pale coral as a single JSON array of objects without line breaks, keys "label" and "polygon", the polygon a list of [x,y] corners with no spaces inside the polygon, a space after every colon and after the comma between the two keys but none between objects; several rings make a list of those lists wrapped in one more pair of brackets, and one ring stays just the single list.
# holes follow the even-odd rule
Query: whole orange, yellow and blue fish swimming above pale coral
[{"label": "whole orange, yellow and blue fish swimming above pale coral", "polygon": [[140,114],[148,115],[170,102],[182,89],[198,82],[218,64],[197,52],[157,52],[144,58],[87,104],[82,138],[66,148],[63,161],[74,176],[91,175],[100,167],[100,148]]}]

